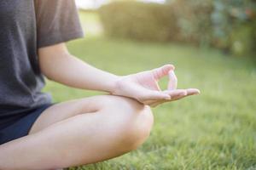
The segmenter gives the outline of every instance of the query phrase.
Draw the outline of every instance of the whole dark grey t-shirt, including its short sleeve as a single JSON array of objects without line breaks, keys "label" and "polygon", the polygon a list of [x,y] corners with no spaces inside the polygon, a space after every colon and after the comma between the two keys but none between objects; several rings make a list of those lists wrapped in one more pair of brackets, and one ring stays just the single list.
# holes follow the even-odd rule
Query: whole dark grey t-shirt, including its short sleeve
[{"label": "whole dark grey t-shirt, including its short sleeve", "polygon": [[38,48],[83,37],[73,0],[0,1],[0,129],[51,103]]}]

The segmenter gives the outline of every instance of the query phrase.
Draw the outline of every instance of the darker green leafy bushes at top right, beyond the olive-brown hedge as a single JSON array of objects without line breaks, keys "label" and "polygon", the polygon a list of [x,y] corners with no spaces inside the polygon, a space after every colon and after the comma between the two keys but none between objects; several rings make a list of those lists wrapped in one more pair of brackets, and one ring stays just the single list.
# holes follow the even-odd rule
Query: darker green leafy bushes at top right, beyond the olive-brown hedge
[{"label": "darker green leafy bushes at top right, beyond the olive-brown hedge", "polygon": [[256,53],[255,0],[166,0],[177,15],[180,39],[213,44],[244,55]]}]

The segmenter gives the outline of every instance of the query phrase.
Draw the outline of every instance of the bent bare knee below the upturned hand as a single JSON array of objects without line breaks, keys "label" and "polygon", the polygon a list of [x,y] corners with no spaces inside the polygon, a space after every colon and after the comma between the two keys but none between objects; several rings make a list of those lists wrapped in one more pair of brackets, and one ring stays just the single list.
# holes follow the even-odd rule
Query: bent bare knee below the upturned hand
[{"label": "bent bare knee below the upturned hand", "polygon": [[105,96],[104,112],[113,116],[116,128],[119,128],[120,144],[127,150],[136,149],[149,136],[154,116],[148,105],[137,100],[119,96]]}]

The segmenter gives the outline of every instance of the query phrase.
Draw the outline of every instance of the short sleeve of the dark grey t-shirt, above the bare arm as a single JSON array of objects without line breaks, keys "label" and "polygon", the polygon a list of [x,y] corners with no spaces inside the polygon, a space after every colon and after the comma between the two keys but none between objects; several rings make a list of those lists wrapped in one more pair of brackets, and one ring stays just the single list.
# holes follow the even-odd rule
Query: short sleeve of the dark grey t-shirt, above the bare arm
[{"label": "short sleeve of the dark grey t-shirt, above the bare arm", "polygon": [[84,37],[74,0],[35,0],[38,48]]}]

